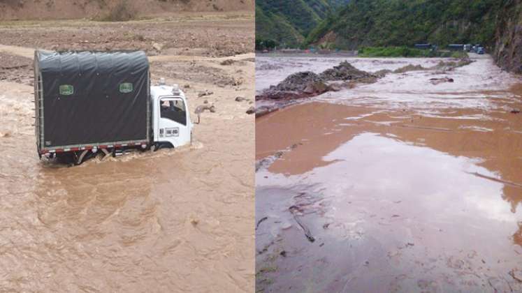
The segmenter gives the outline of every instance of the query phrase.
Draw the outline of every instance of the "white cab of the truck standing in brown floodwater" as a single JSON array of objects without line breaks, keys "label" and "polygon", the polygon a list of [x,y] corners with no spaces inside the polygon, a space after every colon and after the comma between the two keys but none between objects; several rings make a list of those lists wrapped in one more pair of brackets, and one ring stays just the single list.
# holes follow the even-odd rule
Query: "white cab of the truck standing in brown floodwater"
[{"label": "white cab of the truck standing in brown floodwater", "polygon": [[161,81],[159,85],[150,87],[150,99],[154,150],[190,144],[194,124],[187,99],[177,84],[171,87]]}]

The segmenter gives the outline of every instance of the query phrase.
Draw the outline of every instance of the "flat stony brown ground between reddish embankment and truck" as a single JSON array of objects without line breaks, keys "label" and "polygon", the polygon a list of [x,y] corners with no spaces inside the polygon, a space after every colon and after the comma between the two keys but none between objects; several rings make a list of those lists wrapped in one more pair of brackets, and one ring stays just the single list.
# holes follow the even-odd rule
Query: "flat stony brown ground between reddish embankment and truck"
[{"label": "flat stony brown ground between reddish embankment and truck", "polygon": [[224,57],[254,52],[254,15],[180,15],[132,22],[0,23],[3,45],[45,50],[143,50],[148,56]]}]

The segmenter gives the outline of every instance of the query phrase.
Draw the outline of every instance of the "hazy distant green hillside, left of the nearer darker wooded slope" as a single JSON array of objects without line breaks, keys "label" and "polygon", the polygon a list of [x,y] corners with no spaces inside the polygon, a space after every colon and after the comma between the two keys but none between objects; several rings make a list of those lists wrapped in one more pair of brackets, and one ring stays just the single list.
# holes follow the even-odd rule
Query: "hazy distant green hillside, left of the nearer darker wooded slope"
[{"label": "hazy distant green hillside, left of the nearer darker wooded slope", "polygon": [[[257,0],[256,45],[297,47],[331,13],[348,0]],[[257,49],[261,49],[257,47]]]}]

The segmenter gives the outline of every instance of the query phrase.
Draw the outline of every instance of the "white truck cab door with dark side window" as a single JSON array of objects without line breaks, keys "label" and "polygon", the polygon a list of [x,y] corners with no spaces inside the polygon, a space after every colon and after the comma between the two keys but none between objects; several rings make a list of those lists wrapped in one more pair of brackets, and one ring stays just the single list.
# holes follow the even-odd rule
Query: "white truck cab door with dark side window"
[{"label": "white truck cab door with dark side window", "polygon": [[182,98],[159,98],[158,141],[181,147],[190,142],[187,105]]}]

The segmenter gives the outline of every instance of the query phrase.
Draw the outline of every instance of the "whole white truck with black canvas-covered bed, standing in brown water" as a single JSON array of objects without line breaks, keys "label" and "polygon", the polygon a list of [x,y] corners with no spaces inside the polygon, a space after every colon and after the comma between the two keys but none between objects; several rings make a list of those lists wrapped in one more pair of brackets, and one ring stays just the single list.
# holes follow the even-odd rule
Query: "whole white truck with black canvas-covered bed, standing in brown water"
[{"label": "whole white truck with black canvas-covered bed, standing in brown water", "polygon": [[187,98],[150,84],[144,52],[47,52],[34,58],[38,156],[81,164],[103,153],[191,143]]}]

